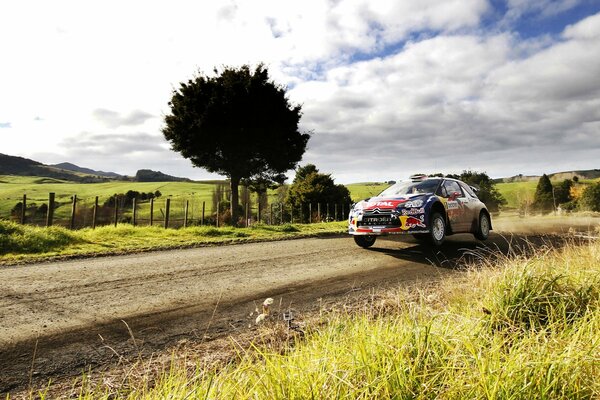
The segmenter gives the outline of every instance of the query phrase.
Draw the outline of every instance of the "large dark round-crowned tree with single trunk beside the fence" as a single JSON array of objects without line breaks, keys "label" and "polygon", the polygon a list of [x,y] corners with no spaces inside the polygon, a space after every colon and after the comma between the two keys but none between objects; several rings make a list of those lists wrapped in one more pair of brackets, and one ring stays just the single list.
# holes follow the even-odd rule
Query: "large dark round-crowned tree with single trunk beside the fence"
[{"label": "large dark round-crowned tree with single trunk beside the fence", "polygon": [[169,106],[163,135],[194,166],[229,178],[234,223],[240,181],[283,183],[310,137],[298,131],[301,107],[290,104],[263,65],[225,67],[212,77],[199,73],[180,84]]}]

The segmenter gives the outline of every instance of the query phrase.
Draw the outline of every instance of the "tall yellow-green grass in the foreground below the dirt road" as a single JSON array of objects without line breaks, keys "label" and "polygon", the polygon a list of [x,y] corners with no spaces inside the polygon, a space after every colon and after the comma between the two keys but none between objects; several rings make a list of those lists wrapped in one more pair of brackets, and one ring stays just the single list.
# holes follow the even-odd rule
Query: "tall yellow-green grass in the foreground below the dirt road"
[{"label": "tall yellow-green grass in the foreground below the dirt road", "polygon": [[281,333],[283,322],[270,321],[255,344],[233,341],[234,360],[217,369],[178,354],[185,362],[162,372],[149,374],[152,367],[143,365],[141,375],[119,385],[84,379],[75,393],[80,399],[598,398],[600,242],[495,260],[436,285],[322,310],[307,320],[306,335],[291,341]]}]

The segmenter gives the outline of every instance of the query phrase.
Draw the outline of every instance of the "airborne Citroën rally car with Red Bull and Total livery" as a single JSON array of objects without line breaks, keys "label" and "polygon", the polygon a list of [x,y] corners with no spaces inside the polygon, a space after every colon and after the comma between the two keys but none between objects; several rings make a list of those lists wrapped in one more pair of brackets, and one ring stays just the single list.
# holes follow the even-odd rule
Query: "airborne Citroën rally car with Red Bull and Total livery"
[{"label": "airborne Citro\u00ebn rally car with Red Bull and Total livery", "polygon": [[491,229],[490,213],[475,187],[457,179],[423,175],[356,203],[348,218],[348,233],[364,248],[381,235],[412,234],[439,246],[455,233],[472,233],[485,240]]}]

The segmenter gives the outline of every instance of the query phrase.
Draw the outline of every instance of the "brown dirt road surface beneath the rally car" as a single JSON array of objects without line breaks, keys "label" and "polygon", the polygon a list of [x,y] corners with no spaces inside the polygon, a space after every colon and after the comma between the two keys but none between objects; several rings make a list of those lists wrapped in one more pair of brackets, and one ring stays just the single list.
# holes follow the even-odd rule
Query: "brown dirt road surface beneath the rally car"
[{"label": "brown dirt road surface beneath the rally car", "polygon": [[365,250],[343,236],[3,267],[0,393],[115,363],[116,354],[247,329],[266,297],[302,311],[356,291],[444,279],[473,250],[506,253],[509,241],[519,239],[457,235],[432,249],[382,238]]}]

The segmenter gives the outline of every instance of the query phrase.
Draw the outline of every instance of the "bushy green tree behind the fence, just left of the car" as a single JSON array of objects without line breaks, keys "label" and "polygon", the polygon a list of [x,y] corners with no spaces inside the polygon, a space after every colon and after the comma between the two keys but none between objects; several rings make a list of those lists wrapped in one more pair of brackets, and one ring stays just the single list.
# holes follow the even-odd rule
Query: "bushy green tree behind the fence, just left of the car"
[{"label": "bushy green tree behind the fence, just left of the car", "polygon": [[286,203],[292,207],[304,207],[307,215],[308,204],[350,204],[350,191],[344,185],[336,185],[329,174],[322,174],[313,164],[298,168],[293,183],[286,196]]}]

